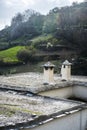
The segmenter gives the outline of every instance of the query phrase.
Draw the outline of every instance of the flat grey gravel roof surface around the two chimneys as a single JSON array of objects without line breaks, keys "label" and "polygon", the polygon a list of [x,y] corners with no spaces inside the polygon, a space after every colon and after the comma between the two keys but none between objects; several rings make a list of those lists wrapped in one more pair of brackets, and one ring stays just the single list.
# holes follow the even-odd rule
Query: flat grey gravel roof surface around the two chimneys
[{"label": "flat grey gravel roof surface around the two chimneys", "polygon": [[87,82],[86,76],[72,76],[70,81],[63,82],[61,77],[54,75],[54,85],[43,84],[42,73],[20,73],[8,76],[0,76],[0,88],[6,87],[11,89],[28,90],[33,93],[38,93],[44,90],[50,90],[63,86],[72,86],[74,82]]}]

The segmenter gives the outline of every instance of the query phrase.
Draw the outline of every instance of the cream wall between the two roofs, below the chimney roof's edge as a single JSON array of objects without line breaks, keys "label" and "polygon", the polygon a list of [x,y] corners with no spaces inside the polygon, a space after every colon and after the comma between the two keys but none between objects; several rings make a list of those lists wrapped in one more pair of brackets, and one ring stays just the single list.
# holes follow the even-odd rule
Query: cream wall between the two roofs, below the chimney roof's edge
[{"label": "cream wall between the two roofs, below the chimney roof's edge", "polygon": [[87,84],[75,84],[73,86],[59,87],[39,93],[42,96],[69,98],[75,97],[87,101]]}]

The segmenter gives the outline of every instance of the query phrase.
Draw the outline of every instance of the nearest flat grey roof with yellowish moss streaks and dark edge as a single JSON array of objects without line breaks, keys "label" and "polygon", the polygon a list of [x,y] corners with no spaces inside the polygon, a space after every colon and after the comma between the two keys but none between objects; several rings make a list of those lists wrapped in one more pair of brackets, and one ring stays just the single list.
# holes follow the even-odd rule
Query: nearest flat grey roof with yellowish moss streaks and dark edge
[{"label": "nearest flat grey roof with yellowish moss streaks and dark edge", "polygon": [[0,129],[33,127],[85,107],[81,102],[0,91]]}]

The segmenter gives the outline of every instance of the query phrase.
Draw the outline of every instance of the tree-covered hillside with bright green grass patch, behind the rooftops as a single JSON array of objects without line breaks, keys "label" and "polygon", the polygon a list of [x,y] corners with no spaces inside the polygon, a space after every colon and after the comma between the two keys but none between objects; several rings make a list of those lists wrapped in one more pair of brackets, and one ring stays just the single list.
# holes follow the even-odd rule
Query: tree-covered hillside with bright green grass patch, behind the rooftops
[{"label": "tree-covered hillside with bright green grass patch, behind the rooftops", "polygon": [[55,7],[46,15],[30,9],[16,14],[0,31],[0,50],[5,67],[67,59],[73,62],[73,74],[87,75],[87,2]]}]

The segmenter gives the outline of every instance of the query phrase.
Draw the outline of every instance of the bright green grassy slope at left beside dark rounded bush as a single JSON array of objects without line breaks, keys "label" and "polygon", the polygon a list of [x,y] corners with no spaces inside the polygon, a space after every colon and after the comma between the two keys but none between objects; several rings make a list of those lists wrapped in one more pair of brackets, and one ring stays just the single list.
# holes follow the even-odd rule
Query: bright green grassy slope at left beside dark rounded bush
[{"label": "bright green grassy slope at left beside dark rounded bush", "polygon": [[3,59],[4,62],[17,62],[18,59],[16,54],[20,49],[23,48],[24,46],[16,46],[4,51],[0,51],[0,59]]}]

